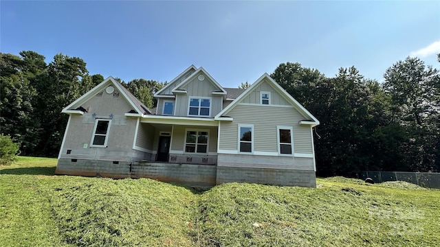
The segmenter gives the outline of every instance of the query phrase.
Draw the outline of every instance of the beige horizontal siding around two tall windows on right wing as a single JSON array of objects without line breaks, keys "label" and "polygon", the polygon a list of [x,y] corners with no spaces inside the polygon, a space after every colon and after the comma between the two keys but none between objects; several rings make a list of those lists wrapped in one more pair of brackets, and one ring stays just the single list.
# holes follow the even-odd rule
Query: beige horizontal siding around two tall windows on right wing
[{"label": "beige horizontal siding around two tall windows on right wing", "polygon": [[305,117],[293,107],[239,104],[227,115],[233,117],[234,121],[221,122],[220,150],[237,150],[239,124],[252,124],[254,125],[254,151],[256,152],[278,152],[276,127],[292,126],[294,152],[313,154],[311,127],[298,124]]}]

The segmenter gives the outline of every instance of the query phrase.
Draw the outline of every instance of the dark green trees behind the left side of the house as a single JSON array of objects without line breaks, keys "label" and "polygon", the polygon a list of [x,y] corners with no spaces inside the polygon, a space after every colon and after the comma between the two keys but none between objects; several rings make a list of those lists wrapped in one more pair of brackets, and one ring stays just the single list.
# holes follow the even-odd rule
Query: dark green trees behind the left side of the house
[{"label": "dark green trees behind the left side of the house", "polygon": [[[0,53],[0,132],[19,143],[21,155],[57,156],[68,119],[61,110],[103,80],[90,75],[81,58],[56,54],[47,64],[35,51]],[[164,84],[116,80],[147,107],[154,106],[153,93]]]}]

